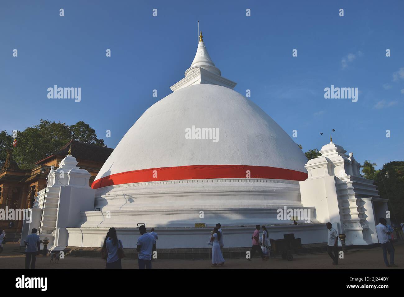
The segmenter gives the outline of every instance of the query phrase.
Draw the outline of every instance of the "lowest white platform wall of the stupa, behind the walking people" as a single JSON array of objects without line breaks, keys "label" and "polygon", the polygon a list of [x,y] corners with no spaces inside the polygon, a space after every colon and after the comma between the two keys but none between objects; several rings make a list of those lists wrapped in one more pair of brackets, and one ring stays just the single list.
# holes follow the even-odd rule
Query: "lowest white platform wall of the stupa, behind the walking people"
[{"label": "lowest white platform wall of the stupa, behind the walking people", "polygon": [[[283,234],[294,233],[295,238],[301,238],[302,244],[320,243],[327,238],[327,229],[324,223],[299,223],[267,226],[269,238],[284,238]],[[149,227],[146,225],[147,230]],[[69,234],[69,246],[101,247],[108,228],[66,228]],[[156,228],[158,234],[158,249],[177,248],[208,248],[207,243],[213,227],[205,228]],[[222,226],[225,247],[238,248],[252,245],[251,236],[255,225],[243,227]],[[118,238],[122,240],[125,248],[136,248],[137,238],[140,236],[138,228],[116,228]]]}]

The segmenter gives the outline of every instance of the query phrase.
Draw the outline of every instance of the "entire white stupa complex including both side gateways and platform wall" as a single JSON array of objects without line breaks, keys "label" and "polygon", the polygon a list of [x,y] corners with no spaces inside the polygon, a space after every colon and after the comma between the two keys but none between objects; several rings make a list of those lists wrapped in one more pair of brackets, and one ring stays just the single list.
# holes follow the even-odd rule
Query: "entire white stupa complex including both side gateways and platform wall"
[{"label": "entire white stupa complex including both side gateways and platform wall", "polygon": [[[124,246],[135,248],[137,225],[145,224],[156,228],[159,248],[204,248],[221,223],[226,247],[246,247],[260,224],[271,238],[294,233],[309,244],[326,242],[330,221],[347,245],[377,242],[376,218],[387,200],[360,176],[353,154],[331,139],[308,161],[234,86],[213,63],[201,32],[184,78],[133,124],[91,187],[93,173],[80,166],[80,156],[63,151],[23,236],[36,227],[51,249],[99,247],[115,227]],[[292,210],[293,218],[280,210]]]}]

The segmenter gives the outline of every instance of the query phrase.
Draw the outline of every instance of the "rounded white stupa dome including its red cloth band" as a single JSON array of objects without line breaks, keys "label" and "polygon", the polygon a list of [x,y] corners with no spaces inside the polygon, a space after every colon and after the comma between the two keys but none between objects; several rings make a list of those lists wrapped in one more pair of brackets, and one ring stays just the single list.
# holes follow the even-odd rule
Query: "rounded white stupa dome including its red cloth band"
[{"label": "rounded white stupa dome including its red cloth band", "polygon": [[[198,133],[198,128],[217,133],[209,130],[206,138],[211,135],[210,139],[187,139],[193,130]],[[255,103],[224,86],[196,84],[152,105],[116,146],[93,187],[170,179],[245,178],[246,170],[253,178],[304,180],[306,162],[297,144]],[[200,172],[195,167],[200,165],[211,167]],[[226,165],[247,167],[240,171]],[[157,177],[153,177],[154,170]]]}]

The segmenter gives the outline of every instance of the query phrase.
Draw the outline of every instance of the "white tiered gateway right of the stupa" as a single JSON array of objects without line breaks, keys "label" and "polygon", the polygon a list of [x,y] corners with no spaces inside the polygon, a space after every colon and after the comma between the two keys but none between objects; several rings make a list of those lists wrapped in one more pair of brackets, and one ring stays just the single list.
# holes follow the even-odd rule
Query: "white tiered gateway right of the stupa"
[{"label": "white tiered gateway right of the stupa", "polygon": [[346,155],[332,140],[320,153],[305,165],[309,177],[300,182],[303,206],[315,206],[317,220],[345,233],[347,245],[377,243],[375,226],[386,215],[387,199],[380,198],[372,180],[360,175],[353,153]]}]

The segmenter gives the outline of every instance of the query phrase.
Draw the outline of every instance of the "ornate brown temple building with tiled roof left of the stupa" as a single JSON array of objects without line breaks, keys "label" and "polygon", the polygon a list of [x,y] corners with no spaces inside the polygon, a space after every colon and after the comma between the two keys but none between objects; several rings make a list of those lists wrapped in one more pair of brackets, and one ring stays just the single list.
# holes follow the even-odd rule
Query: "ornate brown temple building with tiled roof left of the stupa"
[{"label": "ornate brown temple building with tiled roof left of the stupa", "polygon": [[[50,167],[58,166],[67,155],[69,147],[76,153],[78,166],[91,174],[89,185],[113,151],[108,147],[71,140],[59,151],[36,162],[34,169],[19,169],[13,160],[13,150],[7,150],[6,162],[0,168],[0,208],[5,209],[8,206],[8,209],[29,209],[34,206],[38,191],[46,186]],[[10,223],[12,227],[9,227]],[[10,241],[19,240],[21,228],[21,220],[0,221],[0,229],[6,229]]]}]

